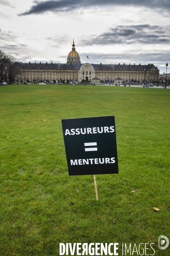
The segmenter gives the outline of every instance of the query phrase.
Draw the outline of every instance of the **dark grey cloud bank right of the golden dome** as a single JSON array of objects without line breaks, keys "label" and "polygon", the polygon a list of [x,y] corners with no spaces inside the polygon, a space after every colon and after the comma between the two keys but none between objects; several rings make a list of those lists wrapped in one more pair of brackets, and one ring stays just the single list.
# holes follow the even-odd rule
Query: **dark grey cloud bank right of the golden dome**
[{"label": "dark grey cloud bank right of the golden dome", "polygon": [[168,26],[120,25],[108,32],[92,35],[81,41],[82,46],[111,44],[170,44]]}]

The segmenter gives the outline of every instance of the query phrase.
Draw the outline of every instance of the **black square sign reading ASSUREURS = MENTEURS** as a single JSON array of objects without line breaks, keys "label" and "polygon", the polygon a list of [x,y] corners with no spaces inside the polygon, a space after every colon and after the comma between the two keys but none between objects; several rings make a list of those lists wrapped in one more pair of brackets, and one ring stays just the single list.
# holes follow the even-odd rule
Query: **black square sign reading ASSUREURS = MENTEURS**
[{"label": "black square sign reading ASSUREURS = MENTEURS", "polygon": [[69,175],[119,173],[114,116],[62,119]]}]

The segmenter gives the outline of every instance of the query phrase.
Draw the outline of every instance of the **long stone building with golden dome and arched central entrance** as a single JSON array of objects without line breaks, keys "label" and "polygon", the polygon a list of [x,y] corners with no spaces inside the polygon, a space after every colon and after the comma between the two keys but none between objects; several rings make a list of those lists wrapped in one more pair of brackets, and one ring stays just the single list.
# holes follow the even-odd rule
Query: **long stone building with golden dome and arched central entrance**
[{"label": "long stone building with golden dome and arched central entrance", "polygon": [[75,50],[73,41],[72,51],[69,52],[67,63],[22,63],[20,67],[22,72],[17,78],[18,80],[32,81],[40,80],[69,80],[69,81],[96,81],[105,82],[110,80],[111,83],[116,83],[116,79],[122,81],[158,81],[159,70],[153,64],[81,64],[78,52]]}]

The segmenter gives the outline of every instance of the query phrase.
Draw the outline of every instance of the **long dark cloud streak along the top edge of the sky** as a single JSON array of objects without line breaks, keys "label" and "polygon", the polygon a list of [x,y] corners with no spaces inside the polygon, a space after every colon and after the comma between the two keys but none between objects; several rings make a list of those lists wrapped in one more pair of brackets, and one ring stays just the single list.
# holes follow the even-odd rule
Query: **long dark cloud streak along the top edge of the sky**
[{"label": "long dark cloud streak along the top edge of the sky", "polygon": [[48,0],[34,1],[33,6],[18,16],[42,14],[44,12],[73,12],[77,9],[104,6],[139,6],[152,9],[170,9],[169,0]]}]

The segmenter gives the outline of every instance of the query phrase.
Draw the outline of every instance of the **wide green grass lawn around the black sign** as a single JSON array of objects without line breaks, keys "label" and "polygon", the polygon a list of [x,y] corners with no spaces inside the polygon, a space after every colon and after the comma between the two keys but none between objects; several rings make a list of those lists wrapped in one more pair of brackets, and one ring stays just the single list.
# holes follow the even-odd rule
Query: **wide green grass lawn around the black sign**
[{"label": "wide green grass lawn around the black sign", "polygon": [[[96,175],[96,201],[92,175],[68,176],[61,119],[107,115],[119,175]],[[0,255],[59,256],[61,242],[117,242],[119,255],[122,243],[155,243],[170,255],[158,248],[170,234],[169,128],[170,90],[0,87]]]}]

